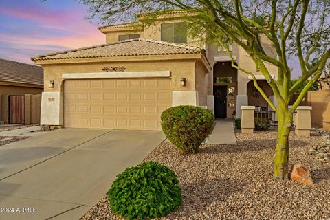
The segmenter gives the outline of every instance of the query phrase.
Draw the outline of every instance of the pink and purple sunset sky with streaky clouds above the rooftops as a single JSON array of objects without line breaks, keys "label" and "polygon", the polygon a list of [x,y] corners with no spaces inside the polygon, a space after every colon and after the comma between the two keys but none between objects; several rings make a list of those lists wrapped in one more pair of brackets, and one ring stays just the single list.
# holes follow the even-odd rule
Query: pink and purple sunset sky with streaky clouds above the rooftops
[{"label": "pink and purple sunset sky with streaky clouds above the rooftops", "polygon": [[[105,43],[96,22],[74,0],[0,0],[0,58],[31,63],[31,56]],[[290,61],[299,76],[298,61]]]}]

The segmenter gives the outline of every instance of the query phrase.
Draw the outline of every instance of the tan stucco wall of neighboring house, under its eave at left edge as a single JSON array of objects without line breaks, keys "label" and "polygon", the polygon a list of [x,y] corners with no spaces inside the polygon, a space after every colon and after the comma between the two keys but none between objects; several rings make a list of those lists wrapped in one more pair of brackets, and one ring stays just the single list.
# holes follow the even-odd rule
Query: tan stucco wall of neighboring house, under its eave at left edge
[{"label": "tan stucco wall of neighboring house, under its eave at left edge", "polygon": [[[6,95],[23,95],[23,94],[41,94],[43,92],[43,88],[34,88],[34,87],[20,87],[20,86],[13,86],[13,85],[1,85],[0,84],[0,95],[1,95],[1,113],[0,113],[0,120],[7,121],[8,120],[8,112],[5,112],[5,104]],[[7,101],[8,102],[8,101]],[[8,110],[7,110],[8,111]],[[5,120],[5,118],[7,118]]]}]

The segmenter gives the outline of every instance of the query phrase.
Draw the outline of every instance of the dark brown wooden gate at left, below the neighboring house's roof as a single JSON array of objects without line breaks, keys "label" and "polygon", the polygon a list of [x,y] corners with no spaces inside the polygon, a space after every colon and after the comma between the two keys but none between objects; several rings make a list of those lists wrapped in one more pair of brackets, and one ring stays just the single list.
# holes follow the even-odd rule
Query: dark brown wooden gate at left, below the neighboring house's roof
[{"label": "dark brown wooden gate at left, below the neighboring house's roof", "polygon": [[9,96],[9,123],[24,124],[24,95]]}]

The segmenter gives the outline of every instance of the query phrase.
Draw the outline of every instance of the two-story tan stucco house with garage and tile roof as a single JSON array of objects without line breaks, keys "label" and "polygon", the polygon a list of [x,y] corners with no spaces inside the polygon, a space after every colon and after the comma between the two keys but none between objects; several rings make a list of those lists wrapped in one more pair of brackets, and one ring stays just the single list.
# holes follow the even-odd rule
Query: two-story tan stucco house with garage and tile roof
[{"label": "two-story tan stucco house with garage and tile roof", "polygon": [[[162,111],[179,104],[211,109],[215,118],[240,117],[241,105],[268,109],[252,79],[231,67],[223,49],[189,39],[181,16],[173,13],[144,30],[135,23],[100,27],[104,45],[32,57],[50,84],[43,93],[41,124],[159,130]],[[254,72],[273,96],[243,49],[230,49],[235,62]],[[276,67],[266,65],[276,78]]]}]

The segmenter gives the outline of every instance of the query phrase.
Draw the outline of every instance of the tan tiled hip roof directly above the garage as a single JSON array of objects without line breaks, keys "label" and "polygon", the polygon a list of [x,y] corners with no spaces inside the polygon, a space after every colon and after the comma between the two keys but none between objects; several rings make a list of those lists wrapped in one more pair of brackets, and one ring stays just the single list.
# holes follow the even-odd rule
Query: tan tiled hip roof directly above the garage
[{"label": "tan tiled hip roof directly above the garage", "polygon": [[131,39],[113,44],[83,47],[32,57],[32,61],[69,58],[99,58],[113,56],[144,56],[167,54],[201,54],[203,49],[151,39]]}]

